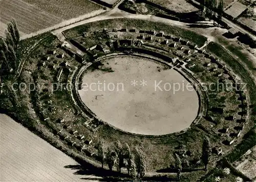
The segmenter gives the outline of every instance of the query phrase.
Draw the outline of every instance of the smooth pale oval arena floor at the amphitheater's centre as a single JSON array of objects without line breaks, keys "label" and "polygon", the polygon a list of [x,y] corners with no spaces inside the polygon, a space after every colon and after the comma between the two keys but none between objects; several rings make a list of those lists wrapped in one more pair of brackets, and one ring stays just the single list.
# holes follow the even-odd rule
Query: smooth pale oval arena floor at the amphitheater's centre
[{"label": "smooth pale oval arena floor at the amphitheater's centre", "polygon": [[[102,63],[114,72],[88,71],[79,94],[103,121],[128,132],[160,135],[181,131],[196,118],[197,93],[193,87],[186,87],[190,83],[177,71],[132,56],[114,57]],[[131,85],[133,80],[138,85]],[[143,80],[147,85],[141,85]]]}]

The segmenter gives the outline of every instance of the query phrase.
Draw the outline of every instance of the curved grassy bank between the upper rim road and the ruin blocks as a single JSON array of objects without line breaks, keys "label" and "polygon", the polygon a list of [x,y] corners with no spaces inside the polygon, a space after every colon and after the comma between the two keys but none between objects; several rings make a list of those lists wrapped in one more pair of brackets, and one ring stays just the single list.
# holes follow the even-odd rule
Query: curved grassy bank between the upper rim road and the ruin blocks
[{"label": "curved grassy bank between the upper rim road and the ruin blocks", "polygon": [[156,30],[156,31],[164,31],[166,34],[172,34],[176,37],[182,37],[186,40],[196,43],[199,47],[201,47],[204,42],[207,40],[206,37],[197,34],[196,32],[185,30],[179,27],[169,26],[162,22],[154,22],[154,21],[145,21],[139,19],[108,19],[91,22],[86,25],[77,26],[73,29],[65,31],[65,35],[68,38],[73,38],[81,35],[83,32],[91,32],[94,30],[101,29],[99,27],[104,27],[108,29],[121,29],[121,28],[133,28],[136,27],[137,31],[139,30]]}]

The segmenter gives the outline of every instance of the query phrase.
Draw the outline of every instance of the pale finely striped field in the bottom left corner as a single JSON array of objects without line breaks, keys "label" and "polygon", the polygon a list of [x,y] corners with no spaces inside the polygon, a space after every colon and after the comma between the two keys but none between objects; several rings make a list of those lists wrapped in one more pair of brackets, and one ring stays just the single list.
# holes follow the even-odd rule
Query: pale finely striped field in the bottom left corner
[{"label": "pale finely striped field in the bottom left corner", "polygon": [[0,115],[0,139],[0,181],[98,181],[65,168],[78,163],[6,115]]}]

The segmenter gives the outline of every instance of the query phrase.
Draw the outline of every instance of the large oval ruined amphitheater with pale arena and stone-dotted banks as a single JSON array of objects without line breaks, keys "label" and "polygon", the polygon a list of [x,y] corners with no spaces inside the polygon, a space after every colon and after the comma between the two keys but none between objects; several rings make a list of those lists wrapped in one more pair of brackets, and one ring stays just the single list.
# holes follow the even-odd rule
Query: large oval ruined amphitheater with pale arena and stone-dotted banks
[{"label": "large oval ruined amphitheater with pale arena and stone-dotted banks", "polygon": [[195,161],[205,135],[212,148],[231,151],[247,124],[248,92],[225,60],[207,50],[205,37],[176,29],[111,19],[62,32],[64,43],[47,35],[51,43],[41,43],[42,54],[24,67],[45,85],[31,95],[42,123],[96,166],[102,139],[105,147],[120,141],[142,149],[151,173],[174,163],[170,154],[181,145]]}]

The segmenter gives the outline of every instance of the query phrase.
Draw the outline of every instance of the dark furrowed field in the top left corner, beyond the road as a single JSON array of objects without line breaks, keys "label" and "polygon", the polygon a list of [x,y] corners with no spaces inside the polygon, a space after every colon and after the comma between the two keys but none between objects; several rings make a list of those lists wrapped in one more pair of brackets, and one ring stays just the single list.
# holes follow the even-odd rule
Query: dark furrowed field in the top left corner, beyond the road
[{"label": "dark furrowed field in the top left corner, beyond the road", "polygon": [[90,1],[0,1],[0,35],[3,36],[6,24],[15,18],[21,34],[29,34],[59,24],[63,20],[102,9]]}]

